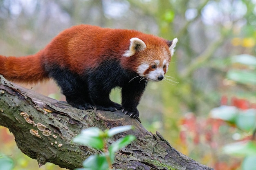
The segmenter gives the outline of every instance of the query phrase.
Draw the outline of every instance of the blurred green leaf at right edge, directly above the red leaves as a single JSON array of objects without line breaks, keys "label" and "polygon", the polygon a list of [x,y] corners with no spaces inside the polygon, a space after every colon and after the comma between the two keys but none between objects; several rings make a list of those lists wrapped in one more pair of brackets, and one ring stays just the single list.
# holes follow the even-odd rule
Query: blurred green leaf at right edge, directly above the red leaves
[{"label": "blurred green leaf at right edge, directly above the red leaves", "polygon": [[227,78],[243,84],[256,84],[256,72],[245,70],[230,70]]}]

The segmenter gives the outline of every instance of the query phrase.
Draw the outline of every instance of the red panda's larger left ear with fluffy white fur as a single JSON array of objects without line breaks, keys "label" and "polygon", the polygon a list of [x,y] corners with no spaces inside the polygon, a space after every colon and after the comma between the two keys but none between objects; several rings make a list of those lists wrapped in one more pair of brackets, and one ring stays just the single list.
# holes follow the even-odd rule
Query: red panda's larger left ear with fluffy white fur
[{"label": "red panda's larger left ear with fluffy white fur", "polygon": [[134,55],[137,51],[142,51],[146,49],[146,44],[139,38],[131,38],[129,50],[125,51],[124,57],[130,57]]}]

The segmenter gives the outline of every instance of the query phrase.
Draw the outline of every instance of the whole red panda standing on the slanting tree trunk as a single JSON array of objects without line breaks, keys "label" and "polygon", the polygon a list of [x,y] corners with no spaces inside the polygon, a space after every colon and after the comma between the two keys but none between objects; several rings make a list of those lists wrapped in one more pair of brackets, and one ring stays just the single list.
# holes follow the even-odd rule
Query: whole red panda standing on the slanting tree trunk
[{"label": "whole red panda standing on the slanting tree trunk", "polygon": [[[0,74],[26,83],[53,78],[73,107],[122,109],[138,118],[137,105],[147,82],[164,79],[176,43],[177,38],[168,41],[135,30],[78,25],[34,55],[0,55]],[[109,98],[116,86],[122,88],[121,105]]]}]

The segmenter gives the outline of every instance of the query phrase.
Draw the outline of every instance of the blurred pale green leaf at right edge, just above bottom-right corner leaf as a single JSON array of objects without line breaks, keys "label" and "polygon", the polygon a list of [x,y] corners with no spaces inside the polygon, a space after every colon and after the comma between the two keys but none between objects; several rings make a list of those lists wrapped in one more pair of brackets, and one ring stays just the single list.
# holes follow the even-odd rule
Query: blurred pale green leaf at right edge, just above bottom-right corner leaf
[{"label": "blurred pale green leaf at right edge, just above bottom-right corner leaf", "polygon": [[235,156],[256,156],[256,144],[252,141],[242,141],[223,147],[223,152]]}]

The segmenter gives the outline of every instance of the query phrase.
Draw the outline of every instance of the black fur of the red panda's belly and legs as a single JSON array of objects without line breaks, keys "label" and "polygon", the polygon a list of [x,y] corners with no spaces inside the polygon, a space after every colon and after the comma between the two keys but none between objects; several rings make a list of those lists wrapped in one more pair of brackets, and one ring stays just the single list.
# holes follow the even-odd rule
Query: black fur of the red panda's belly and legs
[{"label": "black fur of the red panda's belly and legs", "polygon": [[[137,105],[146,81],[141,80],[141,77],[132,79],[138,74],[123,69],[118,61],[107,60],[97,68],[85,68],[83,75],[73,73],[69,68],[61,68],[58,64],[45,66],[45,70],[60,86],[67,102],[73,107],[89,109],[95,106],[98,110],[109,111],[123,109],[130,117],[139,117]],[[122,88],[122,105],[109,99],[112,88],[117,86]]]}]

